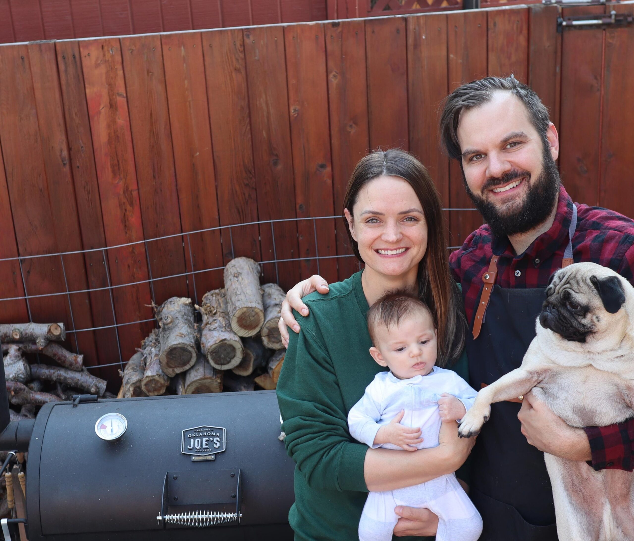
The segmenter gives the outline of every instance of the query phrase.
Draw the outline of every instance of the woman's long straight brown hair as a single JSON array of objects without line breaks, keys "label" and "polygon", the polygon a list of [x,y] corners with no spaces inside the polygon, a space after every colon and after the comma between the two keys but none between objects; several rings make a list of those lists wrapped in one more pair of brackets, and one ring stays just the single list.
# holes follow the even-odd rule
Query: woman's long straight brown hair
[{"label": "woman's long straight brown hair", "polygon": [[[359,190],[381,176],[400,177],[407,181],[418,197],[427,222],[427,250],[418,264],[418,294],[434,314],[438,329],[439,366],[457,360],[467,334],[467,320],[462,309],[462,296],[451,278],[447,262],[447,244],[440,195],[429,172],[410,153],[392,148],[377,150],[359,160],[346,190],[344,209],[353,216]],[[363,261],[344,217],[354,255]]]}]

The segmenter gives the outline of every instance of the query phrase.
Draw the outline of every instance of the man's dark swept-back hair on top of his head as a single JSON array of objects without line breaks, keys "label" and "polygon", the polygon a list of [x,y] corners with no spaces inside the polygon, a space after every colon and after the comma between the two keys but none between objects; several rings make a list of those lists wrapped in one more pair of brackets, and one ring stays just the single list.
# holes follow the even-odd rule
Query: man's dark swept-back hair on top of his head
[{"label": "man's dark swept-back hair on top of his head", "polygon": [[540,96],[519,82],[513,75],[510,77],[484,77],[463,84],[451,92],[444,101],[440,119],[440,136],[444,151],[450,158],[460,160],[462,151],[458,143],[458,121],[462,111],[469,111],[488,103],[496,91],[511,92],[526,107],[531,124],[542,139],[546,139],[550,118],[548,109],[541,103]]}]

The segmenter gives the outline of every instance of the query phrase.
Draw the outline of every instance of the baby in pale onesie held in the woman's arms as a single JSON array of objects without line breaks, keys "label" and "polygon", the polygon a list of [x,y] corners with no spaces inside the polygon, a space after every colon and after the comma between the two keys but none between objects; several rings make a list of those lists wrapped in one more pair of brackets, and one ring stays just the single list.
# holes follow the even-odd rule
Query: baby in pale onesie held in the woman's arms
[{"label": "baby in pale onesie held in the woman's arms", "polygon": [[[477,393],[455,372],[435,366],[436,329],[417,296],[388,293],[368,312],[370,354],[378,372],[348,414],[351,435],[372,449],[416,451],[438,445],[441,423],[455,423]],[[426,507],[438,516],[437,541],[475,541],[482,518],[455,474],[412,487],[370,492],[359,521],[360,541],[390,541],[396,506]]]}]

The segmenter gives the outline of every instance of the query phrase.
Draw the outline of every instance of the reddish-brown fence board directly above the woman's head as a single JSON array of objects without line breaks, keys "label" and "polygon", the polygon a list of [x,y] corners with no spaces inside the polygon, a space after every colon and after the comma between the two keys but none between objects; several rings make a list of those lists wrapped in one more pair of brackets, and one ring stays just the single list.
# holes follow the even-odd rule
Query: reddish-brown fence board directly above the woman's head
[{"label": "reddish-brown fence board directly above the woman's head", "polygon": [[409,148],[407,45],[401,17],[365,22],[370,146]]}]

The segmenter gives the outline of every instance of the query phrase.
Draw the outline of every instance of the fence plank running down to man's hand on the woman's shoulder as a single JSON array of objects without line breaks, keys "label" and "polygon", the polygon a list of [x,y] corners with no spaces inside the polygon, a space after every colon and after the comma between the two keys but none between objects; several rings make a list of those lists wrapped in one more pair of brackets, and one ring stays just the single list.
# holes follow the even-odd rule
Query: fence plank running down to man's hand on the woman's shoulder
[{"label": "fence plank running down to man's hand on the woman's shoulder", "polygon": [[[328,86],[323,25],[284,29],[287,53],[288,104],[293,147],[297,217],[333,215],[332,165],[328,131]],[[314,223],[313,223],[314,222]],[[334,220],[299,220],[302,277],[319,272],[337,280]]]}]

